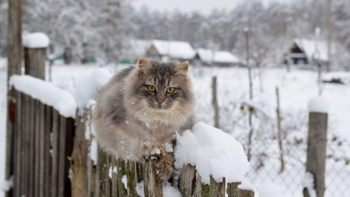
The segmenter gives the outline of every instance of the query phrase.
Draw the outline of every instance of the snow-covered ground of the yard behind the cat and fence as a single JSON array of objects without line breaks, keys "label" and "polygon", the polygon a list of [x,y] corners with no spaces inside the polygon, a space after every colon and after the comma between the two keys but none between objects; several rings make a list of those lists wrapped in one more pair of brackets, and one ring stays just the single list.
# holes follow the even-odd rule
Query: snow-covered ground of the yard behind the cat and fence
[{"label": "snow-covered ground of the yard behind the cat and fence", "polygon": [[[0,62],[1,64],[1,62]],[[77,83],[94,72],[98,65],[65,66],[56,62],[52,68],[52,83],[71,93],[75,92]],[[109,65],[105,67],[110,73],[116,73],[123,65]],[[193,77],[194,91],[197,94],[197,114],[201,121],[214,124],[212,109],[212,76],[217,76],[218,104],[220,107],[220,128],[235,137],[247,148],[247,134],[250,130],[245,103],[254,106],[253,113],[253,143],[251,170],[248,178],[259,188],[264,182],[274,182],[281,186],[283,194],[287,197],[302,196],[301,179],[304,176],[304,163],[306,160],[307,137],[307,102],[317,96],[316,72],[310,70],[292,70],[287,73],[285,69],[265,69],[259,75],[259,70],[253,71],[253,101],[248,98],[248,77],[245,68],[198,68],[190,70]],[[331,73],[327,75],[339,75]],[[350,73],[341,73],[348,77]],[[261,77],[259,77],[261,76]],[[329,77],[329,76],[325,76]],[[1,70],[1,87],[6,87],[1,79],[6,79],[5,72]],[[279,174],[280,162],[278,158],[278,145],[276,134],[276,94],[279,87],[281,107],[281,129],[285,148],[285,171]],[[6,88],[3,89],[5,92]],[[3,97],[4,93],[0,92]],[[327,172],[325,196],[342,196],[350,192],[350,165],[346,159],[350,158],[350,86],[349,84],[324,84],[323,94],[330,103],[327,150]],[[1,101],[1,98],[0,98]],[[1,102],[0,117],[5,109],[5,102]],[[5,116],[4,116],[5,117]],[[0,120],[3,120],[2,118]],[[4,122],[5,123],[5,122]],[[3,124],[4,124],[3,123]],[[0,123],[0,137],[4,139],[5,130]],[[2,129],[2,130],[1,130]],[[2,137],[3,136],[3,137]],[[334,141],[331,141],[334,139]],[[5,154],[0,142],[0,157]],[[339,145],[339,143],[341,145]],[[1,159],[0,158],[0,159]],[[4,161],[4,159],[2,159]],[[3,165],[1,165],[3,166]],[[1,169],[3,172],[3,169]],[[1,175],[0,172],[0,175]],[[2,177],[0,177],[2,179]]]}]

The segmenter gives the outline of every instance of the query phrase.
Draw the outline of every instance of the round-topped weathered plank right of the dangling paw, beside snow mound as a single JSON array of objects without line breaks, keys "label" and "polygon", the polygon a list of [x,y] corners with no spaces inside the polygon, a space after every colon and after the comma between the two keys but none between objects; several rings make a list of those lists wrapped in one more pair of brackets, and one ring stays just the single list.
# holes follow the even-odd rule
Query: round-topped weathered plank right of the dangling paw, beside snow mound
[{"label": "round-topped weathered plank right of the dangling paw, beside snow mound", "polygon": [[191,164],[184,165],[180,172],[179,189],[183,197],[191,197],[196,187],[196,169]]}]

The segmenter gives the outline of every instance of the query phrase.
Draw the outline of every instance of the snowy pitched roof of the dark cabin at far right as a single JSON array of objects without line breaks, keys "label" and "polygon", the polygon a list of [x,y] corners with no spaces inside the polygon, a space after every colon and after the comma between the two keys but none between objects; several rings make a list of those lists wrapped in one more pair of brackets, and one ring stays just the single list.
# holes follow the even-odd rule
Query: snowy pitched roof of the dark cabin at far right
[{"label": "snowy pitched roof of the dark cabin at far right", "polygon": [[[309,60],[313,60],[314,54],[316,52],[316,42],[314,40],[299,39],[295,38],[293,43],[299,47],[307,56]],[[321,61],[328,61],[327,53],[327,43],[320,41],[318,42],[318,51],[320,52],[319,59]]]}]

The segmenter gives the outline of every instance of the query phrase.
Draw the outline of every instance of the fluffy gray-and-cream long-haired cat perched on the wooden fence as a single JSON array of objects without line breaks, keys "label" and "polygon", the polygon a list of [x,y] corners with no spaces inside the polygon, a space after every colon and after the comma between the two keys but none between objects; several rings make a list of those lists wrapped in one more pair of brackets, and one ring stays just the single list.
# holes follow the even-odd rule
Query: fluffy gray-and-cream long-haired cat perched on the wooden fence
[{"label": "fluffy gray-and-cream long-haired cat perched on the wooden fence", "polygon": [[117,157],[146,162],[159,157],[158,175],[173,174],[176,136],[195,123],[194,93],[188,61],[158,62],[140,58],[100,91],[92,123],[101,147]]}]

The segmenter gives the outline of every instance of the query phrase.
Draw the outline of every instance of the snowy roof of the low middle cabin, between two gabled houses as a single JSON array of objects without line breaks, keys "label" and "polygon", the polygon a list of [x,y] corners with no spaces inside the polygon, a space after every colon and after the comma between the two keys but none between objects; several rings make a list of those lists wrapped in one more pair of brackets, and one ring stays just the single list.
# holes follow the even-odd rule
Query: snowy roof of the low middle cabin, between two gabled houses
[{"label": "snowy roof of the low middle cabin, between two gabled houses", "polygon": [[213,53],[213,51],[210,49],[198,48],[196,49],[196,52],[199,58],[203,62],[207,63],[212,61],[218,63],[241,63],[241,60],[237,56],[233,55],[231,52],[226,50],[219,50]]}]

